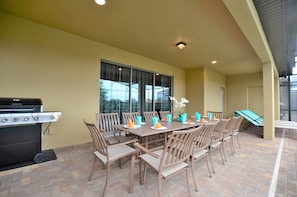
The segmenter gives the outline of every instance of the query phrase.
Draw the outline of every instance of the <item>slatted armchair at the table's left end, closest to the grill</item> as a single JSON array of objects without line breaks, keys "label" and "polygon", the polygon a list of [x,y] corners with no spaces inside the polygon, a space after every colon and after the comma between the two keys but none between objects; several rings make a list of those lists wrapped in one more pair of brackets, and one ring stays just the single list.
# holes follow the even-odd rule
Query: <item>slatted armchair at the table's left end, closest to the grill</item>
[{"label": "slatted armchair at the table's left end, closest to the grill", "polygon": [[[102,133],[98,130],[98,128],[95,126],[95,124],[87,123],[85,120],[83,120],[85,125],[88,127],[93,143],[94,143],[94,162],[92,171],[89,175],[89,181],[92,179],[92,175],[95,168],[96,160],[98,159],[104,166],[106,166],[106,179],[105,179],[105,185],[101,196],[105,196],[105,192],[108,186],[109,182],[109,174],[110,174],[110,167],[111,165],[124,157],[130,156],[132,160],[135,159],[136,150],[132,148],[131,146],[128,146],[128,144],[135,143],[136,140],[130,140],[118,144],[108,145],[105,141],[105,138],[103,137]],[[134,163],[134,161],[133,161]],[[134,166],[132,165],[131,161],[131,168],[130,170],[133,170]],[[131,173],[131,171],[130,171]],[[130,176],[131,177],[131,176]],[[131,179],[130,179],[130,185],[131,185]]]}]

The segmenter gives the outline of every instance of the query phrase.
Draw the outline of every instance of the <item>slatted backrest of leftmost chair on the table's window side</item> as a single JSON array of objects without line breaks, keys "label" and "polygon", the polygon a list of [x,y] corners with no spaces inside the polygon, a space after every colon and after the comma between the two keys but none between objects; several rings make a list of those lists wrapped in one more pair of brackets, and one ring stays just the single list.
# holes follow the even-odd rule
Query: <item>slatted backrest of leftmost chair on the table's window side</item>
[{"label": "slatted backrest of leftmost chair on the table's window side", "polygon": [[115,132],[113,125],[121,124],[118,113],[97,113],[97,126],[101,132]]}]

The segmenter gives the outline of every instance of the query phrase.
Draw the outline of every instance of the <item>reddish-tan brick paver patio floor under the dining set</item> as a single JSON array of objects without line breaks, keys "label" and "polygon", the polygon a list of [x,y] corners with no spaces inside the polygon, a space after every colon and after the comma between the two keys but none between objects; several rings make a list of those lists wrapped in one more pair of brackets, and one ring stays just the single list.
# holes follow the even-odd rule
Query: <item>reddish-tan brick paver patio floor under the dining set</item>
[{"label": "reddish-tan brick paver patio floor under the dining set", "polygon": [[[213,161],[216,174],[212,178],[208,176],[205,159],[197,161],[195,178],[199,191],[194,191],[190,179],[192,196],[297,196],[297,131],[286,130],[283,135],[283,130],[277,129],[273,141],[262,139],[262,132],[262,128],[256,127],[242,131],[239,134],[241,149],[236,146],[234,156],[227,144],[228,162],[225,165],[222,165],[219,150],[215,150]],[[2,171],[0,196],[101,196],[105,170],[99,162],[92,181],[88,181],[93,161],[92,150],[92,143],[58,148],[55,149],[57,160]],[[278,155],[279,168],[275,169]],[[138,166],[135,167],[134,192],[128,193],[129,167],[129,163],[122,168],[116,164],[112,166],[106,196],[157,196],[156,174],[149,170],[146,183],[140,185]],[[185,175],[182,174],[163,181],[162,189],[164,197],[188,196]]]}]

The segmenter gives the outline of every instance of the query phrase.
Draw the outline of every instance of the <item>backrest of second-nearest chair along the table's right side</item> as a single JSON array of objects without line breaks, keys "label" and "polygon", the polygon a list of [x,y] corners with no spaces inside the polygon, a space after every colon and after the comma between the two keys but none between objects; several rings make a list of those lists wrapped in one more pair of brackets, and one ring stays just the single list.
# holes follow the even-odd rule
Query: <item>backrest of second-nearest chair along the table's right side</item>
[{"label": "backrest of second-nearest chair along the table's right side", "polygon": [[213,135],[213,131],[217,124],[218,122],[202,125],[202,128],[199,130],[197,138],[195,139],[194,150],[201,150],[209,147],[211,136]]}]

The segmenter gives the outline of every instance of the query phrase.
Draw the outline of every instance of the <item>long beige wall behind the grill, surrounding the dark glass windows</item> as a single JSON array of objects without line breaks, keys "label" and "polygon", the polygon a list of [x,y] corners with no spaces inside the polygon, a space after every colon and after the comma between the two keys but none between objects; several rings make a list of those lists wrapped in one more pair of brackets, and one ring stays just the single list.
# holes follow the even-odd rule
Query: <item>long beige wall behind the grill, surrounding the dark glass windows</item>
[{"label": "long beige wall behind the grill, surrounding the dark glass windows", "polygon": [[0,12],[0,97],[41,98],[63,113],[43,149],[91,141],[82,119],[98,112],[101,59],[174,76],[175,96],[186,96],[182,69]]}]

